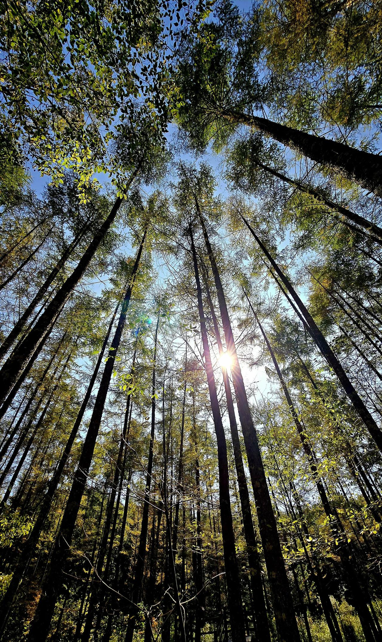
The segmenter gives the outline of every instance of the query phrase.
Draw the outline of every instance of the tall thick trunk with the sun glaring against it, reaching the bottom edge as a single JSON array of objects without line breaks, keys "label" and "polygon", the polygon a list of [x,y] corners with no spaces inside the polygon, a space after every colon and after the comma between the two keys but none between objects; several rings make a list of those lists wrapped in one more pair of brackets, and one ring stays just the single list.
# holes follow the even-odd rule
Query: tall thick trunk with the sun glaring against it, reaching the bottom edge
[{"label": "tall thick trunk with the sun glaring against it, reaching the bottom edge", "polygon": [[238,354],[234,342],[234,335],[230,324],[227,302],[221,284],[218,266],[216,265],[211,243],[209,242],[207,229],[202,214],[200,213],[197,198],[195,196],[196,209],[202,225],[207,254],[211,263],[214,275],[218,302],[220,307],[220,316],[223,323],[225,334],[225,345],[232,359],[232,380],[236,392],[236,403],[238,405],[241,429],[243,431],[245,449],[248,457],[248,467],[254,490],[256,503],[257,518],[259,521],[259,531],[265,557],[268,579],[272,591],[273,611],[275,614],[275,623],[277,633],[282,642],[296,642],[300,640],[299,629],[295,618],[295,609],[291,596],[288,575],[286,574],[284,559],[282,557],[279,534],[277,532],[277,523],[273,513],[272,501],[266,484],[266,476],[261,458],[259,442],[257,440],[256,429],[250,407],[248,404],[247,393],[241,368],[239,365]]}]

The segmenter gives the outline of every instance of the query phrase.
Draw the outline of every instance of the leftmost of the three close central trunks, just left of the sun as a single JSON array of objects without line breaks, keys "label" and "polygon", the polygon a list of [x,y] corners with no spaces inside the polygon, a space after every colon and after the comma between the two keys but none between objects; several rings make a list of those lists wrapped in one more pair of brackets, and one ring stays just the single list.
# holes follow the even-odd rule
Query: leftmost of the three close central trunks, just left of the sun
[{"label": "leftmost of the three close central trunks, just left of the sun", "polygon": [[196,250],[191,229],[189,229],[189,235],[191,238],[191,250],[193,253],[196,291],[198,295],[198,311],[200,317],[200,329],[202,331],[205,370],[207,373],[209,397],[211,401],[211,410],[213,413],[216,441],[218,445],[221,535],[223,537],[224,566],[225,574],[227,577],[227,602],[230,616],[231,636],[232,642],[243,642],[245,640],[245,621],[243,612],[243,600],[241,598],[239,566],[238,560],[236,558],[235,535],[232,525],[232,512],[230,507],[227,444],[225,442],[225,434],[220,416],[218,395],[216,393],[213,365],[211,362],[207,328],[205,325],[198,260],[196,258]]}]

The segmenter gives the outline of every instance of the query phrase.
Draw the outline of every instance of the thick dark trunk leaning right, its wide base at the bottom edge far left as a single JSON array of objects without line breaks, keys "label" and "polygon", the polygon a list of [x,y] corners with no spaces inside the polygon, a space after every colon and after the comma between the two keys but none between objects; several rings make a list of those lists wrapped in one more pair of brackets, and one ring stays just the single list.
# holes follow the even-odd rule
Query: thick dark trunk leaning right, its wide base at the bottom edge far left
[{"label": "thick dark trunk leaning right, its wide base at the bottom edge far left", "polygon": [[30,632],[28,634],[28,642],[43,642],[49,633],[49,627],[53,612],[55,610],[56,600],[64,582],[64,564],[67,555],[70,551],[71,541],[73,538],[74,526],[78,511],[80,510],[80,503],[85,490],[87,476],[92,462],[94,447],[96,446],[96,439],[101,425],[103,409],[109,390],[110,380],[112,378],[114,363],[116,360],[116,353],[121,342],[123,328],[126,322],[126,313],[130,303],[132,288],[137,276],[139,262],[143,251],[144,241],[146,239],[146,230],[143,234],[141,245],[137,252],[132,274],[130,277],[130,284],[126,290],[125,299],[123,300],[121,315],[117,324],[116,332],[112,340],[112,345],[109,349],[107,362],[103,375],[101,378],[100,388],[94,403],[91,421],[85,441],[83,442],[82,453],[76,473],[74,474],[73,484],[69,493],[69,498],[65,506],[64,516],[60,525],[58,536],[56,537],[55,546],[51,555],[51,563],[49,571],[46,574],[44,584],[42,586],[42,596],[35,612],[35,617],[31,623]]}]

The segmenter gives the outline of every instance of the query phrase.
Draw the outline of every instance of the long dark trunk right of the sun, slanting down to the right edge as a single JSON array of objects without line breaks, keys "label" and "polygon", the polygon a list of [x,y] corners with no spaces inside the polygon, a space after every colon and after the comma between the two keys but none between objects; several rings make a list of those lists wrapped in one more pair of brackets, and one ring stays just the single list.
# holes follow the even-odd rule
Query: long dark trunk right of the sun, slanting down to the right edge
[{"label": "long dark trunk right of the sun, slanting down to the right edge", "polygon": [[279,268],[275,260],[272,258],[272,256],[266,249],[265,245],[261,242],[261,240],[257,236],[254,229],[252,229],[248,221],[243,216],[241,218],[243,219],[245,225],[247,225],[248,230],[250,230],[252,236],[254,236],[254,238],[256,239],[257,244],[261,248],[262,252],[265,254],[270,264],[272,265],[273,270],[275,270],[277,275],[279,275],[279,278],[281,279],[282,283],[286,287],[286,290],[288,291],[288,293],[290,293],[292,299],[295,301],[297,308],[299,308],[300,313],[302,314],[302,317],[304,317],[304,320],[308,326],[311,337],[313,338],[314,342],[316,343],[322,355],[326,358],[326,361],[329,364],[329,366],[333,368],[338,379],[340,380],[343,390],[345,390],[347,396],[351,400],[352,405],[354,406],[354,410],[356,410],[361,420],[365,424],[366,428],[369,430],[369,433],[371,437],[374,439],[374,441],[376,442],[379,450],[382,451],[382,433],[378,428],[376,421],[373,419],[369,410],[365,406],[365,403],[363,403],[360,395],[352,385],[345,370],[343,370],[343,367],[340,361],[338,360],[333,350],[329,346],[329,343],[327,343],[327,340],[324,337],[324,334],[322,334],[315,320],[313,320],[313,317],[311,317],[311,315],[309,314],[308,309],[302,303],[302,300],[300,299],[299,295],[291,285],[290,281],[286,278],[282,270]]}]

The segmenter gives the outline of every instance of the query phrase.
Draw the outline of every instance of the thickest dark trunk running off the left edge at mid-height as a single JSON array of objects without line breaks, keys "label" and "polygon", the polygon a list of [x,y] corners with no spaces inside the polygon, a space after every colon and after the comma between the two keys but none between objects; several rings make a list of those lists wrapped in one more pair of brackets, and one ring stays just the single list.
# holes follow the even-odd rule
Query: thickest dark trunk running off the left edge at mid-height
[{"label": "thickest dark trunk running off the left edge at mid-height", "polygon": [[[130,186],[134,180],[137,172],[138,169],[135,169],[134,173],[130,177],[128,186]],[[123,197],[119,196],[114,203],[109,216],[102,223],[96,234],[94,234],[89,247],[85,250],[73,273],[60,287],[53,300],[51,300],[39,320],[37,320],[36,324],[31,329],[30,333],[24,338],[24,340],[22,340],[21,343],[19,343],[15,351],[12,352],[12,355],[4,363],[0,370],[0,381],[2,383],[0,403],[4,402],[4,399],[6,399],[8,393],[12,390],[13,386],[15,386],[21,374],[25,374],[25,370],[29,372],[31,369],[33,361],[39,355],[49,336],[52,324],[55,322],[62,308],[64,308],[64,305],[69,299],[73,289],[76,287],[80,279],[82,279],[83,274],[89,267],[98,247],[100,247],[102,239],[105,237],[105,234],[107,234],[110,226],[114,222],[122,203]],[[33,360],[31,359],[32,356]]]}]

